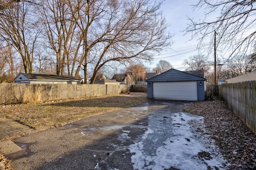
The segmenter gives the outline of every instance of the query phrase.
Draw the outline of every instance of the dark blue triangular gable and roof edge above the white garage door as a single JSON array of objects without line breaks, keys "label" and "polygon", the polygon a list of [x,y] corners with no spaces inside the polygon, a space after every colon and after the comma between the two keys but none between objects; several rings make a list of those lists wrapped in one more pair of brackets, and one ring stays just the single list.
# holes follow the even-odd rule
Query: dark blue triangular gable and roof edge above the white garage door
[{"label": "dark blue triangular gable and roof edge above the white garage door", "polygon": [[153,78],[146,80],[146,82],[178,82],[178,81],[197,81],[202,80],[205,81],[205,78],[200,76],[195,76],[193,74],[189,74],[187,72],[183,72],[180,70],[175,70],[174,68],[163,72]]}]

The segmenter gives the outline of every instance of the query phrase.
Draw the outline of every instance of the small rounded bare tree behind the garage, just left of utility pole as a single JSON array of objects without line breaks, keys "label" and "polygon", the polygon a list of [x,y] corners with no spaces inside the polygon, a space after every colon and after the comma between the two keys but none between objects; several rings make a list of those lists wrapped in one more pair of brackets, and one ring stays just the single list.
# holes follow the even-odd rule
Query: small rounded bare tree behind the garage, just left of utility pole
[{"label": "small rounded bare tree behind the garage, just left of utility pole", "polygon": [[183,61],[183,64],[188,66],[186,70],[201,70],[204,68],[205,71],[209,69],[208,64],[206,63],[208,61],[208,56],[206,55],[192,55],[188,59],[185,59]]}]

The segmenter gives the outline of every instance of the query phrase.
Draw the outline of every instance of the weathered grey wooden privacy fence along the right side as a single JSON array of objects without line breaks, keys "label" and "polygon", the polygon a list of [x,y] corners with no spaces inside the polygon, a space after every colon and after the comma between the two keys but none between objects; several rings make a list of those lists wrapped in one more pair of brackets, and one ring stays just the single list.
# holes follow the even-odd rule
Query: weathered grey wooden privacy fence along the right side
[{"label": "weathered grey wooden privacy fence along the right side", "polygon": [[256,81],[222,84],[219,97],[256,134]]}]

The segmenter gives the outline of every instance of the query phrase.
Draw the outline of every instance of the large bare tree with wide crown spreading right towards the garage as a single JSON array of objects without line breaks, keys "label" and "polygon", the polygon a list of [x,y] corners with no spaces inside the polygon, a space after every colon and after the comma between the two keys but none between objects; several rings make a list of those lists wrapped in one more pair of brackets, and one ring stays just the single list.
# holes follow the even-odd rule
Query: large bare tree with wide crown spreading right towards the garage
[{"label": "large bare tree with wide crown spreading right towards the garage", "polygon": [[[150,61],[170,45],[156,0],[68,0],[83,41],[83,69],[93,65],[92,81],[104,65]],[[79,10],[77,10],[79,9]]]}]

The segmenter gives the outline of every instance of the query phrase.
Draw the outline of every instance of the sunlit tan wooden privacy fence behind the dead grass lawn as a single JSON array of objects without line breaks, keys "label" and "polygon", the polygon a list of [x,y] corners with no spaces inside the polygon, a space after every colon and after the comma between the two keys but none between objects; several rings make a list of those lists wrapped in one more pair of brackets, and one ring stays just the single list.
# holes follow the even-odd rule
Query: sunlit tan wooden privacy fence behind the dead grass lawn
[{"label": "sunlit tan wooden privacy fence behind the dead grass lawn", "polygon": [[[0,104],[22,102],[27,92],[40,101],[120,94],[126,84],[16,84],[0,83]],[[33,95],[32,95],[33,96]]]}]

